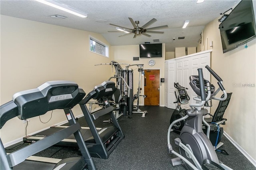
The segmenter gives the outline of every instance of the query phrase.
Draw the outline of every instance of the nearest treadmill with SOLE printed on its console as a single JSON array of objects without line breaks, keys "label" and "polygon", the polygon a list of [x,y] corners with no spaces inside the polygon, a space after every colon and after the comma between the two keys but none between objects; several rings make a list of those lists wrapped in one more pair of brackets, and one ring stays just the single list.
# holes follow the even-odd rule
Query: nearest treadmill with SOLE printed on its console
[{"label": "nearest treadmill with SOLE printed on its console", "polygon": [[[1,170],[28,170],[28,169],[53,169],[53,170],[96,170],[96,166],[84,144],[80,125],[76,123],[71,111],[85,93],[78,85],[71,81],[48,81],[37,89],[15,93],[12,101],[0,106],[0,125],[18,117],[21,120],[44,115],[48,111],[64,109],[69,127],[38,140],[24,148],[10,154],[6,153],[0,138],[0,169]],[[74,134],[82,157],[66,158],[63,160],[32,156],[64,138]],[[3,136],[1,136],[3,137]],[[33,166],[33,167],[32,167]]]}]

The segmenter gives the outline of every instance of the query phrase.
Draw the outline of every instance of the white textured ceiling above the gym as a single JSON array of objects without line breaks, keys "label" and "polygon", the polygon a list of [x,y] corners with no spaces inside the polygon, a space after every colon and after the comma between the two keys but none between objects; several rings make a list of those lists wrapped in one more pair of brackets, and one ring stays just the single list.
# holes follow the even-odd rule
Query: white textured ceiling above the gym
[{"label": "white textured ceiling above the gym", "polygon": [[[240,0],[205,0],[196,4],[196,0],[58,0],[76,10],[88,15],[80,18],[67,12],[52,8],[34,0],[0,0],[2,15],[23,18],[78,30],[102,34],[110,45],[135,45],[144,42],[153,43],[159,39],[166,43],[166,51],[174,51],[175,47],[195,47],[200,34],[206,24],[221,17],[220,13],[233,8]],[[50,18],[50,15],[66,16],[66,19]],[[152,18],[156,22],[149,26],[168,25],[168,28],[154,31],[163,31],[164,34],[144,35],[133,38],[134,35],[123,33],[109,33],[116,31],[115,24],[126,28],[133,28],[128,17],[140,21],[143,26]],[[97,22],[106,20],[106,22]],[[190,20],[187,28],[182,29],[185,20]],[[178,37],[184,36],[184,40]],[[176,40],[173,40],[176,38]]]}]

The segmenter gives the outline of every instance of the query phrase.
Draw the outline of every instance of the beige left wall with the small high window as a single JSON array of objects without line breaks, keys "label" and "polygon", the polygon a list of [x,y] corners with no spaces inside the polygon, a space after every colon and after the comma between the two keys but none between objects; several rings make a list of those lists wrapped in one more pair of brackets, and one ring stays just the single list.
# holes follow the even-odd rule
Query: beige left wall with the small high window
[{"label": "beige left wall with the small high window", "polygon": [[[34,89],[46,81],[69,80],[89,93],[107,80],[111,67],[94,66],[112,59],[89,51],[89,35],[108,42],[100,35],[20,18],[1,15],[1,105],[16,92]],[[80,108],[74,108],[81,115]],[[41,116],[46,122],[51,114]],[[64,111],[53,111],[49,123],[39,117],[30,119],[27,134],[66,121]],[[1,129],[3,143],[25,136],[26,124],[18,118]]]}]

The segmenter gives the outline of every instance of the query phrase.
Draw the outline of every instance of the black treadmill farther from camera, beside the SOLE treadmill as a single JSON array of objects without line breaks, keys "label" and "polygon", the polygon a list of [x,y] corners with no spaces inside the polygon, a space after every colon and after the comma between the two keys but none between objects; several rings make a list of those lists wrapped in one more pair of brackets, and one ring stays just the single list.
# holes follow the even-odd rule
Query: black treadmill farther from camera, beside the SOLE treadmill
[{"label": "black treadmill farther from camera, beside the SOLE treadmill", "polygon": [[[116,91],[116,86],[113,81],[104,81],[102,84],[97,85],[88,93],[88,95],[80,101],[79,105],[82,109],[84,117],[89,127],[82,127],[80,130],[83,140],[92,157],[108,159],[110,153],[116,148],[119,142],[124,138],[124,134],[118,124],[118,121],[113,113],[114,108],[110,105],[108,97],[112,96]],[[91,99],[100,101],[103,109],[90,113],[86,103]],[[96,128],[94,121],[99,117],[109,114],[113,125],[103,128]],[[32,136],[25,136],[23,141],[26,143],[33,143],[34,141],[45,138],[59,130],[66,128],[64,126],[50,127],[42,132],[38,132]],[[58,142],[58,146],[74,146],[78,144],[74,135],[70,135],[62,141]]]}]

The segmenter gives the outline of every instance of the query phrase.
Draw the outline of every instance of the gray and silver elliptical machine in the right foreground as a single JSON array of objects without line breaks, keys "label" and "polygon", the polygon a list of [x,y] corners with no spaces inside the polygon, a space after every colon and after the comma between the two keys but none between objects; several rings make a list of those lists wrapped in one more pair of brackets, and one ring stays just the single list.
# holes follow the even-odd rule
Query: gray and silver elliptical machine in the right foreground
[{"label": "gray and silver elliptical machine in the right foreground", "polygon": [[[208,65],[206,65],[206,69],[208,69],[208,71],[210,71],[210,73],[218,80],[218,85],[224,94],[223,97],[218,98],[218,100],[225,100],[227,93],[222,85],[222,79]],[[168,128],[168,150],[170,153],[178,156],[171,160],[172,165],[176,166],[183,164],[188,170],[208,170],[210,168],[231,170],[231,168],[218,160],[218,156],[212,143],[202,131],[203,115],[208,113],[207,109],[202,107],[214,94],[214,90],[211,89],[210,82],[204,79],[202,68],[198,69],[198,76],[194,76],[194,78],[195,79],[191,79],[190,86],[198,95],[198,97],[193,98],[196,100],[196,103],[190,104],[191,109],[186,111],[186,116],[172,122]],[[179,154],[173,150],[172,145],[170,144],[170,132],[175,123],[183,120],[186,120],[186,122],[180,132],[180,136],[179,138],[174,139],[175,144],[180,146]]]}]

